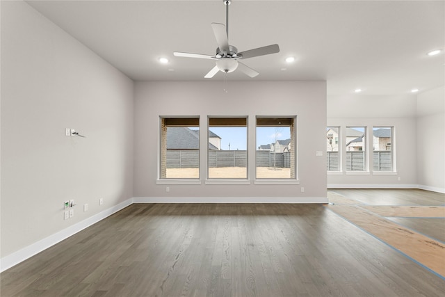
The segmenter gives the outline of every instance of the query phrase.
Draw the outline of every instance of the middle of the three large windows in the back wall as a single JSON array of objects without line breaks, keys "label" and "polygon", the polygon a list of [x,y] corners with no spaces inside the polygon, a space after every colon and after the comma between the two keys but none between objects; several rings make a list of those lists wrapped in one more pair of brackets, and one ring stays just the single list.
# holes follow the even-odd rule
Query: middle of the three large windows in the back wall
[{"label": "middle of the three large windows in the back wall", "polygon": [[209,179],[248,178],[247,118],[209,118]]}]

